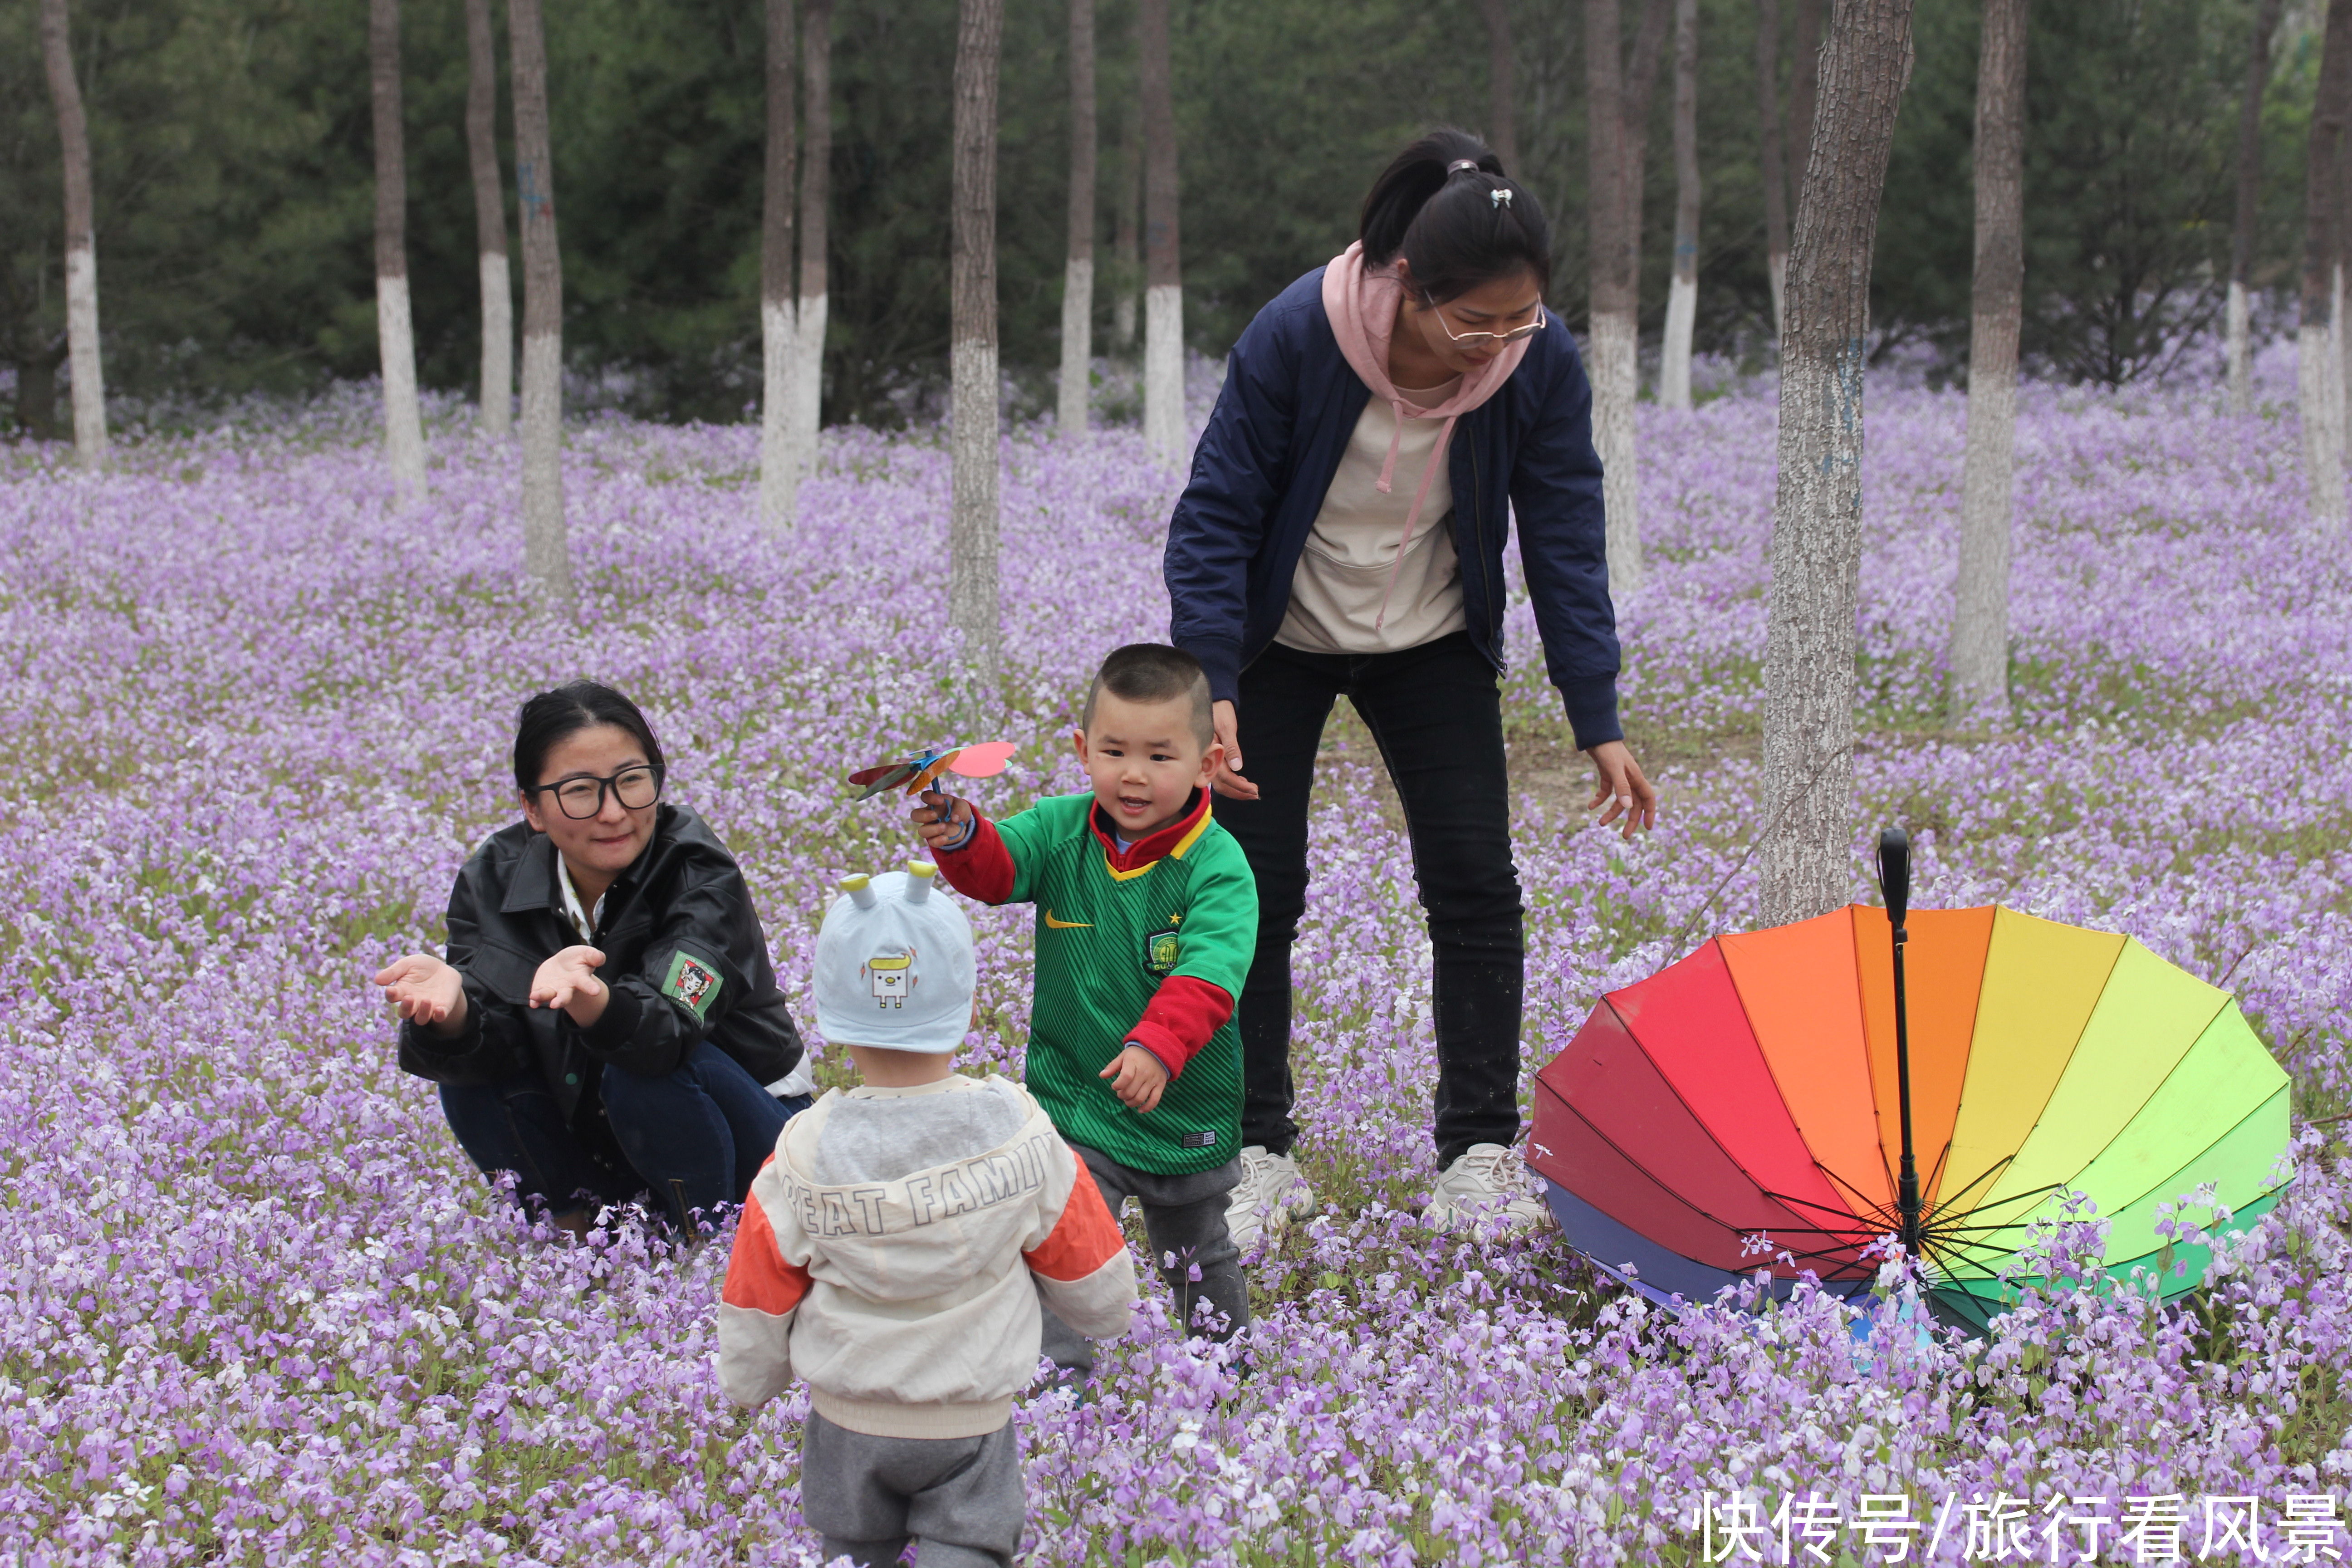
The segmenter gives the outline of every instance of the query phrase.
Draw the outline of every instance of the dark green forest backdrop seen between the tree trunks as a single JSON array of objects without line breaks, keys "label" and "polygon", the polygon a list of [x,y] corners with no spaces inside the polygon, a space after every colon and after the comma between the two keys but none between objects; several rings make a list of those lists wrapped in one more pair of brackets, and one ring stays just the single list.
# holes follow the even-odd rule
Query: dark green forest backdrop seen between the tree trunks
[{"label": "dark green forest backdrop seen between the tree trunks", "polygon": [[[0,369],[21,433],[54,433],[64,343],[56,118],[33,5],[0,7]],[[1552,306],[1585,320],[1581,7],[1510,0],[1522,179],[1550,207]],[[1795,61],[1783,5],[1780,101]],[[2161,376],[2218,327],[2253,0],[2067,0],[2032,9],[2025,139],[2030,371]],[[466,165],[461,0],[405,0],[407,254],[426,388],[475,393],[480,294]],[[106,289],[108,393],[303,393],[376,374],[365,0],[82,0]],[[898,425],[943,404],[953,5],[840,0],[826,423]],[[1964,371],[1973,244],[1976,0],[1919,0],[1872,275],[1875,353]],[[1698,348],[1771,346],[1755,0],[1700,0]],[[743,0],[572,0],[548,14],[564,193],[572,407],[739,421],[760,395],[764,35]],[[1138,207],[1134,0],[1101,0],[1096,343],[1141,273],[1115,247]],[[997,268],[1016,409],[1058,357],[1068,205],[1068,14],[1004,19]],[[2317,78],[2312,7],[2274,42],[2263,103],[2256,329],[2291,313]],[[501,47],[501,78],[506,71]],[[1185,336],[1223,355],[1251,313],[1355,230],[1371,174],[1437,122],[1491,118],[1475,0],[1188,0],[1174,7]],[[1663,85],[1661,85],[1663,87]],[[1642,327],[1656,341],[1672,242],[1668,89],[1653,92]],[[501,103],[508,101],[501,80]],[[503,162],[513,167],[501,113]],[[1802,146],[1802,141],[1797,143]],[[513,221],[513,186],[508,186]],[[513,247],[513,237],[510,237]],[[2267,301],[2270,310],[2260,301]],[[2211,367],[2201,367],[2211,369]],[[35,395],[38,393],[38,395]],[[47,407],[42,407],[47,404]]]}]

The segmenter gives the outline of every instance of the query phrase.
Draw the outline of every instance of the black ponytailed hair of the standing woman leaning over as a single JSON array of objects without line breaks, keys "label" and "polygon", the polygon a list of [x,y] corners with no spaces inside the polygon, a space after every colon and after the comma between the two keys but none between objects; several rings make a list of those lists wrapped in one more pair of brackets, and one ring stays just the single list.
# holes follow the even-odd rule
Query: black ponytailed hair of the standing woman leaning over
[{"label": "black ponytailed hair of the standing woman leaning over", "polygon": [[1367,268],[1404,256],[1432,303],[1519,273],[1552,287],[1543,205],[1470,132],[1435,129],[1397,153],[1364,195],[1357,237]]}]

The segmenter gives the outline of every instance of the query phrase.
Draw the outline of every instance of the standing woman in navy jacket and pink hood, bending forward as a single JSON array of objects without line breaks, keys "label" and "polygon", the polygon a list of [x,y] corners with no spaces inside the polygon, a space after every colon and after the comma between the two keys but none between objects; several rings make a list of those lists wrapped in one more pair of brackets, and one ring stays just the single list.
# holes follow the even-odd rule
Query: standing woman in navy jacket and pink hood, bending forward
[{"label": "standing woman in navy jacket and pink hood, bending forward", "polygon": [[[1230,1227],[1315,1213],[1291,1140],[1291,943],[1331,703],[1364,717],[1404,804],[1435,947],[1437,1187],[1428,1218],[1543,1218],[1519,1138],[1524,943],[1503,766],[1503,538],[1602,823],[1656,820],[1616,719],[1616,614],[1592,390],[1543,308],[1536,197],[1465,132],[1404,148],[1359,240],[1232,348],[1169,522],[1171,642],[1209,670],[1218,820],[1258,877],[1242,990],[1242,1182]],[[1505,510],[1508,508],[1508,510]]]}]

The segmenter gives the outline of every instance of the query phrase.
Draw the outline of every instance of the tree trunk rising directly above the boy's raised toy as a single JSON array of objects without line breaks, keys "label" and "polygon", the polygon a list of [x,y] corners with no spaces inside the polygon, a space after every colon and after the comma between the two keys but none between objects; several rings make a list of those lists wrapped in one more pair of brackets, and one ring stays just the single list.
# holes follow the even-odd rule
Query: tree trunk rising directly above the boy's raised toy
[{"label": "tree trunk rising directly above the boy's raised toy", "polygon": [[997,684],[997,49],[1004,0],[962,0],[955,28],[955,256],[948,374],[953,501],[948,618]]}]

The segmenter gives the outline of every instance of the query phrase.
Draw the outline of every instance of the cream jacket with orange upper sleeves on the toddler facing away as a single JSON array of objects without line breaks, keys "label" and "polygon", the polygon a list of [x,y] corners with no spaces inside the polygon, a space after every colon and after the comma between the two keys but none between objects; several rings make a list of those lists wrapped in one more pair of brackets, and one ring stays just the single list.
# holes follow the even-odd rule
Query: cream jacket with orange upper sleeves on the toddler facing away
[{"label": "cream jacket with orange upper sleeves on the toddler facing away", "polygon": [[797,1375],[851,1432],[983,1436],[1037,1375],[1040,1295],[1089,1338],[1127,1333],[1136,1265],[1094,1178],[1028,1091],[988,1086],[1028,1110],[1018,1133],[887,1182],[816,1180],[842,1091],[786,1124],[720,1298],[729,1399],[774,1399]]}]

